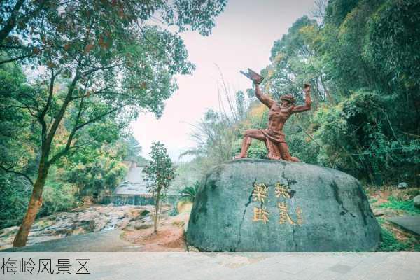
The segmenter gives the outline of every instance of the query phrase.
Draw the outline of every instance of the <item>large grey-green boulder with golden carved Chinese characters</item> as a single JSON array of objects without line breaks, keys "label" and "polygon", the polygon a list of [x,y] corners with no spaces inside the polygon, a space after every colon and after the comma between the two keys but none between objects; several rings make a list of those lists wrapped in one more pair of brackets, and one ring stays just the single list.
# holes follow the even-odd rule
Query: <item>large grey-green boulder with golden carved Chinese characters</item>
[{"label": "large grey-green boulder with golden carved Chinese characters", "polygon": [[372,251],[379,232],[354,177],[304,163],[243,159],[204,178],[186,236],[201,251]]}]

